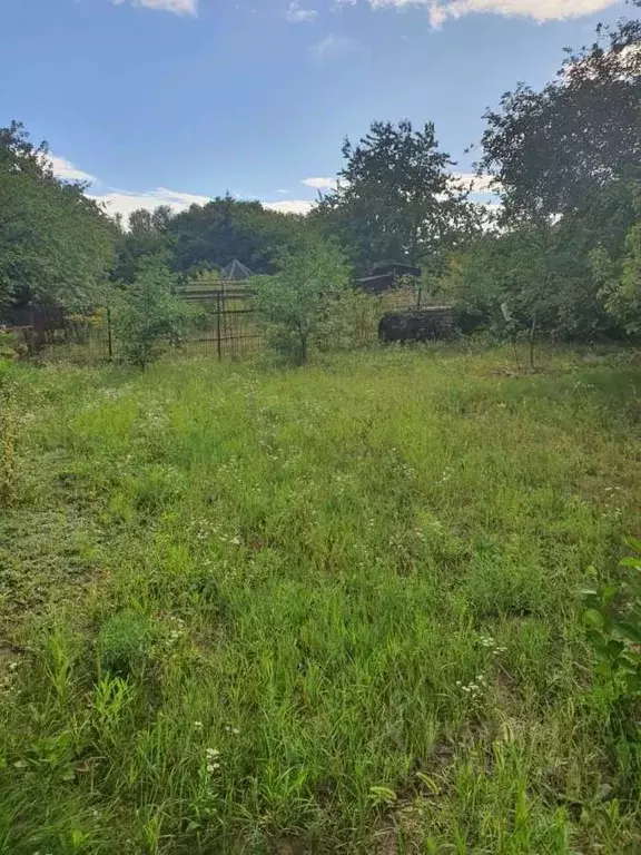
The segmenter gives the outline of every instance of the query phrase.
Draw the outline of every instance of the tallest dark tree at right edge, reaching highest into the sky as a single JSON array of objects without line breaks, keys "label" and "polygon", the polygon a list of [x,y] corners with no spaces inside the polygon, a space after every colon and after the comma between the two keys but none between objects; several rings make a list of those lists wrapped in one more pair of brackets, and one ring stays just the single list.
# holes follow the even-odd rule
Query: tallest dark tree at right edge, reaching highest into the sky
[{"label": "tallest dark tree at right edge, reaching highest into the sky", "polygon": [[502,197],[491,275],[511,317],[532,333],[618,335],[594,248],[617,267],[635,220],[641,26],[598,28],[596,42],[571,56],[551,83],[541,91],[520,85],[485,118],[479,168]]}]

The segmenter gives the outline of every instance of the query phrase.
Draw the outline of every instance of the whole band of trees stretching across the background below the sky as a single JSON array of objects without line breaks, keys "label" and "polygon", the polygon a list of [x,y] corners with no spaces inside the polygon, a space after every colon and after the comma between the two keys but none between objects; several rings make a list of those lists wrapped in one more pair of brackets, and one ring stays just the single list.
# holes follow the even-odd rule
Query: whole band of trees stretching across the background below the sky
[{"label": "whole band of trees stretching across the background below the sky", "polygon": [[484,118],[476,186],[456,178],[431,122],[381,121],[345,141],[336,189],[307,217],[225,196],[127,224],[58,180],[46,146],[14,122],[0,130],[0,313],[95,306],[150,268],[176,284],[234,258],[290,282],[284,268],[304,254],[323,281],[319,258],[352,277],[376,263],[420,266],[424,298],[454,303],[469,328],[640,334],[641,22],[599,27],[542,90],[519,86]]}]

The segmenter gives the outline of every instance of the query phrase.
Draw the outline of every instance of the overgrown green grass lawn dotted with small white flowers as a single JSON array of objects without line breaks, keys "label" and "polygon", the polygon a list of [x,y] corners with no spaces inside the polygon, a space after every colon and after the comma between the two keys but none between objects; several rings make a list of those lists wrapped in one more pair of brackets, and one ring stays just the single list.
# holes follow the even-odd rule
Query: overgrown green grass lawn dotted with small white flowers
[{"label": "overgrown green grass lawn dotted with small white flowers", "polygon": [[6,372],[0,851],[641,851],[641,370],[509,358]]}]

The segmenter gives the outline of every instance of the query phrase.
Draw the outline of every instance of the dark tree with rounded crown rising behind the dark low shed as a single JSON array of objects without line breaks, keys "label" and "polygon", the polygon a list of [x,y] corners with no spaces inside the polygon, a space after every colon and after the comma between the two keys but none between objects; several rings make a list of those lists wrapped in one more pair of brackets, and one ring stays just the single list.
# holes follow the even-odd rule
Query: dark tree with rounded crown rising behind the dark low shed
[{"label": "dark tree with rounded crown rising behind the dark low shed", "polygon": [[345,141],[343,156],[336,190],[310,216],[339,238],[361,273],[375,262],[434,265],[465,229],[466,193],[451,179],[434,125],[375,121],[359,142]]}]

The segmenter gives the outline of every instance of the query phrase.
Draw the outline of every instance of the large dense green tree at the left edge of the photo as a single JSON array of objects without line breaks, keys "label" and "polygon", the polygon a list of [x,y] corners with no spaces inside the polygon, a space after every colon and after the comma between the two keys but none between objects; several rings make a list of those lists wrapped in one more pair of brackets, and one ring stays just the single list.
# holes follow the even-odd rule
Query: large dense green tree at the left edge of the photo
[{"label": "large dense green tree at the left edge of the photo", "polygon": [[21,124],[0,129],[0,306],[105,298],[116,233],[83,190],[55,177]]}]

